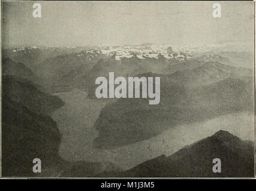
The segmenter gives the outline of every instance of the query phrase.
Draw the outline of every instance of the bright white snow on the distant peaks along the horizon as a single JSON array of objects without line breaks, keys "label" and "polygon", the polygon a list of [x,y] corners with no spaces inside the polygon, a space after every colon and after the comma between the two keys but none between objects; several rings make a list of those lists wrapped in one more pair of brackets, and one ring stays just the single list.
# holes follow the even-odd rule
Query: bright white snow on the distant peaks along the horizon
[{"label": "bright white snow on the distant peaks along the horizon", "polygon": [[[13,53],[19,53],[23,51],[25,53],[31,53],[34,50],[47,50],[58,52],[64,49],[76,49],[77,47],[47,47],[40,48],[36,46],[32,47],[15,47],[12,49]],[[86,51],[86,53],[91,54],[103,54],[106,57],[115,57],[116,60],[121,60],[122,58],[131,58],[136,56],[139,59],[146,58],[156,58],[159,56],[166,58],[167,60],[176,59],[176,60],[188,60],[193,57],[195,54],[203,53],[207,51],[205,48],[200,47],[181,47],[173,45],[156,45],[156,44],[142,44],[142,45],[121,45],[121,46],[110,46],[104,45],[98,48],[93,48]]]}]

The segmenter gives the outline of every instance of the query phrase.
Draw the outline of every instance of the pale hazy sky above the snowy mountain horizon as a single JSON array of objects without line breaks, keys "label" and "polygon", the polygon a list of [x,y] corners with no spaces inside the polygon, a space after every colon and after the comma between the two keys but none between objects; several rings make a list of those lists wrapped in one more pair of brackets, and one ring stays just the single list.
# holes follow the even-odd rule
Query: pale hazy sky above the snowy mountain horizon
[{"label": "pale hazy sky above the snowy mountain horizon", "polygon": [[2,3],[4,47],[246,44],[254,46],[254,2],[73,1]]}]

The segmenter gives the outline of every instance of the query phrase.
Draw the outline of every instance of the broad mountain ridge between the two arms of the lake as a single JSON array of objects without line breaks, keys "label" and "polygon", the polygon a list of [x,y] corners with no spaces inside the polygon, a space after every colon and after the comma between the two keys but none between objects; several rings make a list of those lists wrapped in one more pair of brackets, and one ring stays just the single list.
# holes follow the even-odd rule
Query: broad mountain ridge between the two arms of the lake
[{"label": "broad mountain ridge between the two arms of the lake", "polygon": [[148,98],[121,98],[101,110],[95,122],[98,130],[95,146],[124,146],[153,137],[176,125],[227,113],[253,111],[252,90],[249,82],[233,78],[204,87],[185,88],[172,84],[168,76],[164,78],[163,75],[159,104],[149,105]]}]

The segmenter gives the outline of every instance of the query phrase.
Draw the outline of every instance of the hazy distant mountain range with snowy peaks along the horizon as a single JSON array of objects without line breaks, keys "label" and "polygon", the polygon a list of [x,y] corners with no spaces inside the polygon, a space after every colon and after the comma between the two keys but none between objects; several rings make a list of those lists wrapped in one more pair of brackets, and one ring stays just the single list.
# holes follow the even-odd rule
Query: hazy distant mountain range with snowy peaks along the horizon
[{"label": "hazy distant mountain range with snowy peaks along the horizon", "polygon": [[[237,53],[239,56],[233,52],[220,52],[220,54],[206,47],[166,44],[15,47],[3,50],[4,57],[16,63],[23,63],[36,76],[36,79],[31,81],[49,92],[62,91],[62,87],[63,91],[73,88],[91,89],[92,82],[95,81],[95,72],[98,76],[106,76],[104,72],[119,72],[124,76],[146,72],[170,74],[201,66],[207,61],[230,66],[239,66],[239,64],[247,66],[248,58],[251,60],[249,53]],[[109,63],[107,67],[106,63]],[[55,87],[58,87],[57,90]]]}]

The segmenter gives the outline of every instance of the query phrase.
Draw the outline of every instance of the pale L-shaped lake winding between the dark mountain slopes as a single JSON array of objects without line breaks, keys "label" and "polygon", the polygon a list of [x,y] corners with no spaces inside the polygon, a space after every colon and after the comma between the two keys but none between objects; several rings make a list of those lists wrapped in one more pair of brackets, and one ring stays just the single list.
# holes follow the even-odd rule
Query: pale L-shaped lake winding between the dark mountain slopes
[{"label": "pale L-shaped lake winding between the dark mountain slopes", "polygon": [[[55,94],[65,102],[65,106],[53,112],[52,118],[63,134],[59,155],[68,161],[106,162],[107,158],[118,167],[128,170],[159,155],[169,156],[218,130],[228,131],[242,140],[254,141],[254,134],[251,134],[254,131],[254,113],[240,112],[178,125],[155,137],[128,146],[115,149],[96,148],[93,141],[98,132],[94,128],[94,123],[107,100],[90,100],[86,98],[86,94],[80,90]],[[156,127],[162,124],[158,121]]]}]

